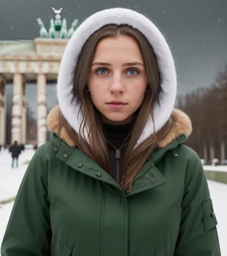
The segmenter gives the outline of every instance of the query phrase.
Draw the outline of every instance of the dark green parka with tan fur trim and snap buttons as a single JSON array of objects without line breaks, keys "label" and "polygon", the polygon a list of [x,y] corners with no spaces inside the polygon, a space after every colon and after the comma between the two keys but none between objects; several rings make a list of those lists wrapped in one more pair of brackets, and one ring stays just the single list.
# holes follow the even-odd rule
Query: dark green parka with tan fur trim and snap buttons
[{"label": "dark green parka with tan fur trim and snap buttons", "polygon": [[73,148],[64,129],[57,139],[59,109],[53,109],[51,141],[36,150],[25,173],[1,256],[220,256],[203,167],[182,145],[190,120],[174,112],[174,127],[128,193]]}]

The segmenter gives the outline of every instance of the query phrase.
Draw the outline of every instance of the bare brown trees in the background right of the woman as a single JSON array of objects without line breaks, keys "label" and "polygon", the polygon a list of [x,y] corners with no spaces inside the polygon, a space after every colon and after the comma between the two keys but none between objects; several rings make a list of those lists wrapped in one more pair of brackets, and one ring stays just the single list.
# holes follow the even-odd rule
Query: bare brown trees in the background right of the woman
[{"label": "bare brown trees in the background right of the woman", "polygon": [[193,123],[193,134],[187,144],[200,157],[209,147],[217,158],[226,158],[227,141],[227,65],[218,73],[214,84],[208,89],[198,89],[178,101],[178,107],[185,111]]}]

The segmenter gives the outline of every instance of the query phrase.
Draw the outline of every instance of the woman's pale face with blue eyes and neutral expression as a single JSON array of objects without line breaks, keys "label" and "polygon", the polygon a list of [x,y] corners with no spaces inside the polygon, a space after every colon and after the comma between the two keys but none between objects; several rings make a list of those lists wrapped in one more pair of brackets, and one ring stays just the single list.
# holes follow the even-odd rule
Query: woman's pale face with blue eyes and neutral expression
[{"label": "woman's pale face with blue eyes and neutral expression", "polygon": [[103,122],[132,122],[148,85],[136,41],[128,36],[102,39],[94,54],[87,85]]}]

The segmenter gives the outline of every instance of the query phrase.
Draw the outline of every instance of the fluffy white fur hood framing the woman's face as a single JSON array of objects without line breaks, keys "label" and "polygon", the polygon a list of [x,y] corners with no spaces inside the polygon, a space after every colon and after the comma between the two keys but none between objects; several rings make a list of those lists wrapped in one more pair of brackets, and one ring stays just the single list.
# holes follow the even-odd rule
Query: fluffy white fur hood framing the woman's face
[{"label": "fluffy white fur hood framing the woman's face", "polygon": [[[57,81],[57,98],[60,110],[68,123],[79,133],[82,117],[79,115],[77,119],[79,106],[76,99],[72,102],[75,66],[87,39],[95,31],[107,24],[127,24],[136,28],[147,37],[154,49],[162,74],[162,92],[159,95],[160,106],[157,103],[154,109],[155,128],[158,131],[170,118],[174,108],[177,89],[174,61],[169,46],[159,29],[144,15],[124,8],[96,12],[80,24],[70,38],[62,57]],[[137,145],[153,134],[153,132],[153,122],[150,117]]]}]

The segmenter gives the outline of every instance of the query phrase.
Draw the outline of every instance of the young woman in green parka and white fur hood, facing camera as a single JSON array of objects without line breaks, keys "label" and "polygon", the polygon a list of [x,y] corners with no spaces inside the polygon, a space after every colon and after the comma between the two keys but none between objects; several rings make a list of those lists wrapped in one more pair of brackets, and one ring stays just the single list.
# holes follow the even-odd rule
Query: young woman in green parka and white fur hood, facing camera
[{"label": "young woman in green parka and white fur hood, facing camera", "polygon": [[68,42],[51,141],[19,189],[2,256],[220,256],[198,155],[183,143],[176,74],[157,27],[97,12]]}]

